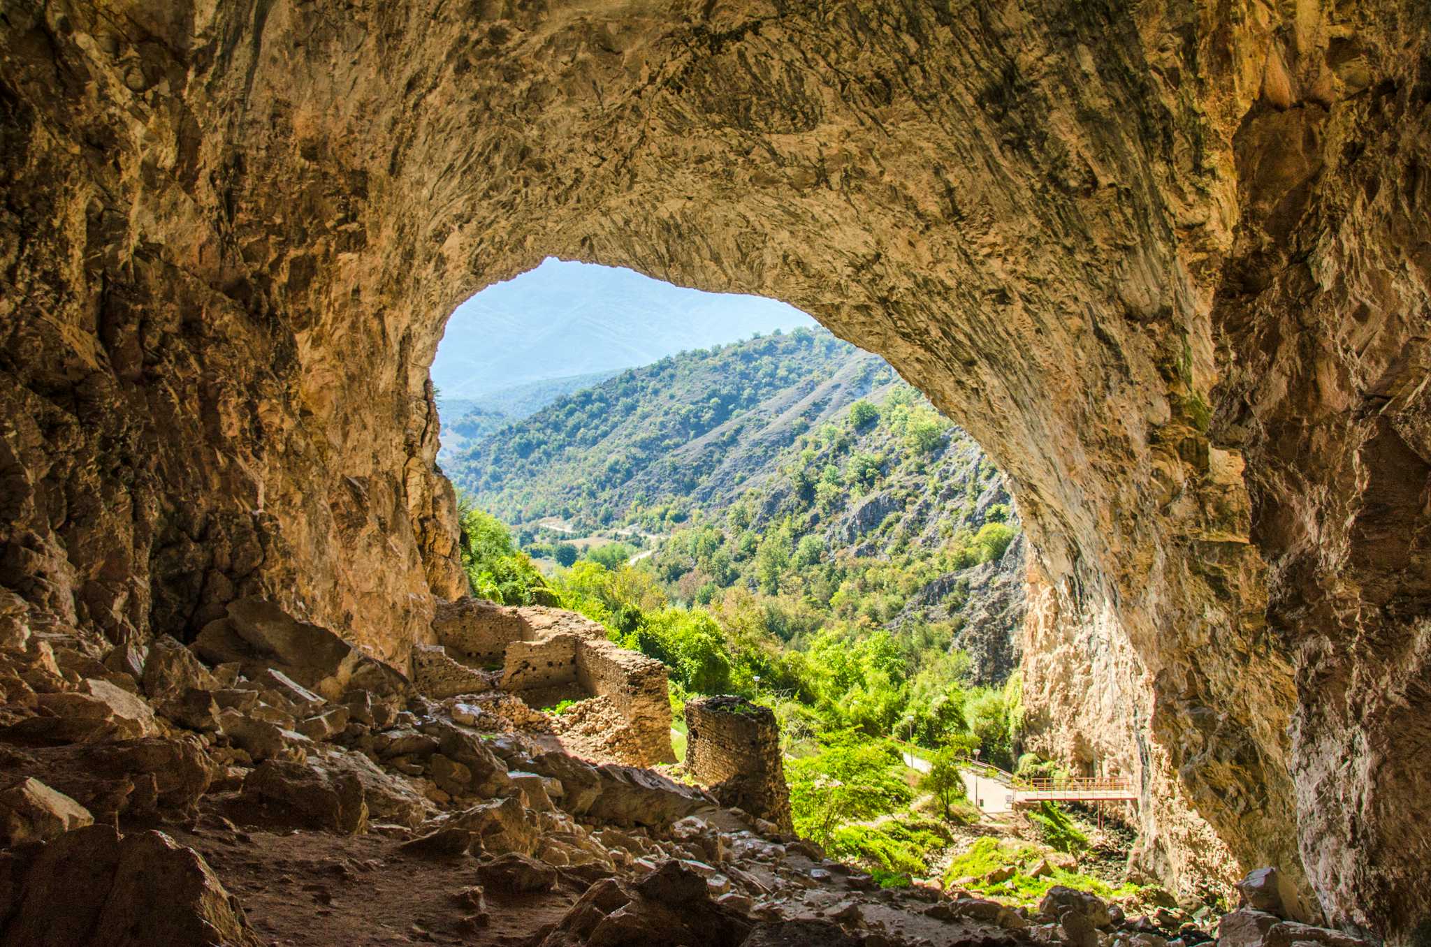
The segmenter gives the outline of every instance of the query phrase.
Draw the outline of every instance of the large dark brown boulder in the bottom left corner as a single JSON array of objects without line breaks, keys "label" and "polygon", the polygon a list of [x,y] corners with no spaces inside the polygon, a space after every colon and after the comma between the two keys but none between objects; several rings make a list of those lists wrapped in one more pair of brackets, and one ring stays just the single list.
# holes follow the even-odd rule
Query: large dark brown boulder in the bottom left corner
[{"label": "large dark brown boulder in the bottom left corner", "polygon": [[24,874],[7,947],[258,947],[238,901],[192,848],[107,825],[66,833]]}]

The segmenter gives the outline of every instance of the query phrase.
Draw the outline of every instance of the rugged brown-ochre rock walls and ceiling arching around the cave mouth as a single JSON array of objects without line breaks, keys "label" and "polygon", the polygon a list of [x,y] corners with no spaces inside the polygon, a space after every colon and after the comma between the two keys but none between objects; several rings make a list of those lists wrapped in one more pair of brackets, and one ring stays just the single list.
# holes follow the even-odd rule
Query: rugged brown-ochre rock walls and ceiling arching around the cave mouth
[{"label": "rugged brown-ochre rock walls and ceiling arching around the cave mouth", "polygon": [[[426,366],[561,255],[778,296],[1006,471],[1050,745],[1146,860],[1425,924],[1420,0],[7,4],[0,584],[401,658],[461,584]],[[1092,675],[1089,694],[1070,687]],[[1221,848],[1219,848],[1221,851]]]}]

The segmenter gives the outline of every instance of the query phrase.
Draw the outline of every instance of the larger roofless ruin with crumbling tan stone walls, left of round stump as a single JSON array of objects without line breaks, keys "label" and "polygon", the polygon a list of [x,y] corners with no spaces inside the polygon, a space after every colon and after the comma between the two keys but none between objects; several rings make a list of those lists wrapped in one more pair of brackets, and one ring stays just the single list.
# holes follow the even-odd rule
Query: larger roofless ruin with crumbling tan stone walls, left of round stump
[{"label": "larger roofless ruin with crumbling tan stone walls, left of round stump", "polygon": [[412,681],[432,698],[505,691],[531,707],[604,697],[625,721],[635,765],[675,762],[665,665],[558,608],[459,598],[438,605],[435,644],[412,649]]}]

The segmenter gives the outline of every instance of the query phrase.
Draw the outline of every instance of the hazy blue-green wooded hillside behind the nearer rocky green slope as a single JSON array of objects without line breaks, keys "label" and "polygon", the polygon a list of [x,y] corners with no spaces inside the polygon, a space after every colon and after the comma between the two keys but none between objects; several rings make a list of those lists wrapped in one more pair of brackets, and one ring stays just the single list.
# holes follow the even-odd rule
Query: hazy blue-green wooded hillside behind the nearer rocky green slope
[{"label": "hazy blue-green wooded hillside behind the nearer rocky green slope", "polygon": [[685,352],[567,395],[444,469],[505,522],[624,522],[758,475],[811,425],[894,379],[824,329]]}]

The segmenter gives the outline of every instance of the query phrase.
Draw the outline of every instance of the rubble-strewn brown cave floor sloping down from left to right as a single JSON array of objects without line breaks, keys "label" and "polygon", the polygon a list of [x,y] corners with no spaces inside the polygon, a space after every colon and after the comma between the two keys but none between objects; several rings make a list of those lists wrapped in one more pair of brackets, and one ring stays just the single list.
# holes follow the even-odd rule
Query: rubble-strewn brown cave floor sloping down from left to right
[{"label": "rubble-strewn brown cave floor sloping down from left to right", "polygon": [[[0,618],[11,947],[1208,940],[1181,911],[1126,917],[1066,888],[1037,910],[880,890],[700,788],[602,762],[610,708],[561,722],[505,694],[429,701],[312,625],[239,622],[236,659],[205,664],[213,642],[107,648]],[[554,748],[564,728],[598,758]],[[1358,943],[1289,927],[1276,896],[1255,883],[1222,940]]]}]

